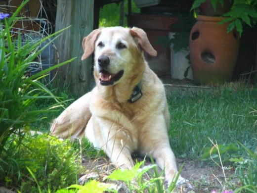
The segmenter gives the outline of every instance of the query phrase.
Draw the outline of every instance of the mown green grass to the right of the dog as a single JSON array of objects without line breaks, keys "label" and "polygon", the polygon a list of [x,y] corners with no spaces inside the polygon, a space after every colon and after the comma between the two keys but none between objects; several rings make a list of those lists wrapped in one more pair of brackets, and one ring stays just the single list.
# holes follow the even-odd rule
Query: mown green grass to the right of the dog
[{"label": "mown green grass to the right of the dog", "polygon": [[237,84],[170,94],[169,135],[177,157],[199,161],[204,147],[212,146],[208,137],[223,146],[240,142],[250,149],[256,147],[257,114],[253,108],[257,106],[257,88]]}]

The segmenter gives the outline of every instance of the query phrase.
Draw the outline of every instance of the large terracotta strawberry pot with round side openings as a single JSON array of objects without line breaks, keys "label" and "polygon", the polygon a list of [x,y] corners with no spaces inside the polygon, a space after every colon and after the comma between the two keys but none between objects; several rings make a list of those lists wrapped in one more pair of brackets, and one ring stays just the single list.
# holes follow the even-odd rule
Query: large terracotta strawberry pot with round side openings
[{"label": "large terracotta strawberry pot with round side openings", "polygon": [[227,33],[224,17],[197,16],[190,32],[189,48],[193,80],[196,84],[217,85],[230,81],[237,61],[239,35]]}]

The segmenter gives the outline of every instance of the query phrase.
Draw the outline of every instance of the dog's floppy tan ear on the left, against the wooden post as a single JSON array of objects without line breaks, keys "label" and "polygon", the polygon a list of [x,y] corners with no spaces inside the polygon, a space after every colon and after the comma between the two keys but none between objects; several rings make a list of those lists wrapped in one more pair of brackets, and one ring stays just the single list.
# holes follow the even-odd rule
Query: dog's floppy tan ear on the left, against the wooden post
[{"label": "dog's floppy tan ear on the left, against the wooden post", "polygon": [[101,33],[101,28],[93,30],[88,36],[83,39],[82,46],[84,53],[82,55],[82,60],[85,60],[89,55],[94,52],[94,43]]}]

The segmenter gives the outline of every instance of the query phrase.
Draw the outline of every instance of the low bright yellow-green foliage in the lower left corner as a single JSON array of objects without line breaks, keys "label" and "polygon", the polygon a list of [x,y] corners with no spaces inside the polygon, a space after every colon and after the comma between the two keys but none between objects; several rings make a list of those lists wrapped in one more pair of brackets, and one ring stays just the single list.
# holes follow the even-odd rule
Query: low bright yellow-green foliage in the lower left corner
[{"label": "low bright yellow-green foliage in the lower left corner", "polygon": [[19,144],[17,136],[10,138],[11,154],[4,152],[0,157],[2,185],[20,187],[21,192],[37,192],[38,188],[47,192],[76,182],[80,161],[76,158],[78,151],[69,140],[61,141],[46,134],[27,134]]}]

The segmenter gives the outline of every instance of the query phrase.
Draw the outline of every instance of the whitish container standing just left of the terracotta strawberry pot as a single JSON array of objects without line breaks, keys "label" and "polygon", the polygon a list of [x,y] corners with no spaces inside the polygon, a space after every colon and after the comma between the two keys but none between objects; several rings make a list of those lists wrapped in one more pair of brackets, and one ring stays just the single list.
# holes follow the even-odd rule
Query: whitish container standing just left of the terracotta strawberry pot
[{"label": "whitish container standing just left of the terracotta strawberry pot", "polygon": [[[174,38],[175,32],[169,33],[169,38]],[[185,49],[181,49],[177,52],[173,50],[173,44],[171,44],[171,78],[183,80],[185,78],[192,80],[192,69],[190,68],[190,64],[188,59],[186,58],[189,55],[189,51]],[[188,69],[187,76],[185,77],[185,72]]]}]

